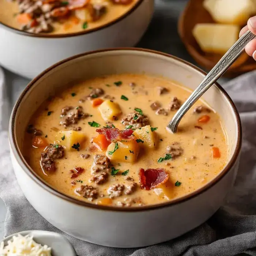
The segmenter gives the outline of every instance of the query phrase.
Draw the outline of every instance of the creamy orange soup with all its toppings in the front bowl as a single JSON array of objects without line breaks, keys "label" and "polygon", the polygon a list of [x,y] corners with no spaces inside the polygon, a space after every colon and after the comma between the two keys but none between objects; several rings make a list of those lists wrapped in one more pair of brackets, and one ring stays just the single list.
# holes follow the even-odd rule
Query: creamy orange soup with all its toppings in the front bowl
[{"label": "creamy orange soup with all its toppings in the front bowl", "polygon": [[148,75],[86,80],[35,112],[23,155],[51,187],[86,202],[143,206],[187,195],[221,172],[228,153],[221,120],[203,101],[176,134],[166,130],[190,93]]}]

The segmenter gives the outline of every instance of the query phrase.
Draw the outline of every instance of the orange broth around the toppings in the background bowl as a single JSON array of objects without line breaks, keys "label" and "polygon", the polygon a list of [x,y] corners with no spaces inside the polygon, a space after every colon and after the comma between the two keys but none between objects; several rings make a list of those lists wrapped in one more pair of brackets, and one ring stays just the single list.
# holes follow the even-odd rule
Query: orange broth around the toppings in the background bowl
[{"label": "orange broth around the toppings in the background bowl", "polygon": [[[74,19],[75,13],[73,12],[69,18],[60,20],[60,22],[53,22],[54,30],[50,34],[68,34],[76,33],[83,30],[94,29],[101,27],[112,20],[119,18],[128,12],[138,0],[133,0],[131,4],[113,4],[111,0],[99,0],[106,4],[106,13],[103,14],[98,20],[92,21],[89,19]],[[97,3],[97,0],[94,1]],[[86,8],[85,8],[86,9]],[[17,14],[19,13],[18,3],[16,1],[0,0],[0,22],[15,29],[21,29],[22,24],[18,22]],[[83,24],[87,23],[86,29]],[[24,24],[23,24],[24,25]]]}]

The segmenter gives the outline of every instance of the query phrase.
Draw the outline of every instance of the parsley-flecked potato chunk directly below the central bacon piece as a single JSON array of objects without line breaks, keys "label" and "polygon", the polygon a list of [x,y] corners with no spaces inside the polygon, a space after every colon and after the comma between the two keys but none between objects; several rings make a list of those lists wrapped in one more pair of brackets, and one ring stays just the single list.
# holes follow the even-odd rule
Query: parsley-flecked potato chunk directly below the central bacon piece
[{"label": "parsley-flecked potato chunk directly below the central bacon piece", "polygon": [[[140,150],[136,140],[118,141],[116,143],[111,143],[106,152],[106,155],[110,158],[111,162],[134,163]],[[115,148],[117,149],[115,150]]]}]

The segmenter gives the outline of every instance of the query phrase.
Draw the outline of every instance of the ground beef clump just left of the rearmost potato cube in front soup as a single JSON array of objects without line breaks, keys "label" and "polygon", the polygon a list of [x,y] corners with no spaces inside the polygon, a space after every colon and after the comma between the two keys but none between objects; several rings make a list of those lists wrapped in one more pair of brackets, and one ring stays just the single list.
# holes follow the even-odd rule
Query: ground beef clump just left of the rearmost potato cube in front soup
[{"label": "ground beef clump just left of the rearmost potato cube in front soup", "polygon": [[63,125],[65,128],[71,124],[77,124],[79,120],[90,116],[90,114],[83,112],[82,106],[78,106],[75,110],[69,109],[71,111],[66,113],[64,111],[65,115],[62,114],[62,110],[61,110],[61,117],[63,117],[64,120],[60,121],[60,125]]}]

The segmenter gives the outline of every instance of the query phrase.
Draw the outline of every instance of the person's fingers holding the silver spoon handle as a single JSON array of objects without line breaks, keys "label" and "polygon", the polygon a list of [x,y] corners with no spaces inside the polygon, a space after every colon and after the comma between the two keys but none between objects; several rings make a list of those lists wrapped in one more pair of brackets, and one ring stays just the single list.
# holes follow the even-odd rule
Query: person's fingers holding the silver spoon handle
[{"label": "person's fingers holding the silver spoon handle", "polygon": [[[256,35],[256,16],[248,19],[247,25],[241,29],[239,37],[241,37],[248,29]],[[245,52],[256,60],[256,39],[252,39],[252,41],[245,46]]]}]

